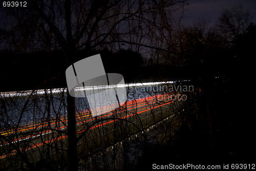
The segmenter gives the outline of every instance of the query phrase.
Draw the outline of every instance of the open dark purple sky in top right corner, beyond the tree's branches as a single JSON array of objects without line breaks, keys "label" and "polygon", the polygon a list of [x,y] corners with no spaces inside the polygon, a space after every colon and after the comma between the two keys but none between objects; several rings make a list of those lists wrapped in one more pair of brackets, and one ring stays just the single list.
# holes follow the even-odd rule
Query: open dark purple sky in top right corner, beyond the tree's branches
[{"label": "open dark purple sky in top right corner, beyond the tree's branches", "polygon": [[190,0],[186,6],[183,24],[193,24],[199,19],[207,19],[212,25],[218,22],[218,17],[224,9],[242,4],[245,10],[249,10],[251,21],[256,23],[255,0]]}]

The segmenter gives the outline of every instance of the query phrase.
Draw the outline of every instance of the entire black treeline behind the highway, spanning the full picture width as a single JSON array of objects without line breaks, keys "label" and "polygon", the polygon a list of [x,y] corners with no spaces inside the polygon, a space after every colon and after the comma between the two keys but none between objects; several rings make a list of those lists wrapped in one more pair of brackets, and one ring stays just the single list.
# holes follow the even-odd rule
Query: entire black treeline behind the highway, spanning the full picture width
[{"label": "entire black treeline behind the highway, spanning the full picture width", "polygon": [[[127,83],[223,76],[249,81],[256,60],[255,24],[250,23],[231,44],[217,31],[185,28],[180,33],[185,41],[180,53],[177,56],[161,53],[159,61],[124,49],[115,53],[107,49],[89,53],[81,50],[74,54],[74,61],[100,54],[105,72],[120,73]],[[50,54],[2,52],[1,91],[65,88],[67,66],[64,55],[61,51]]]}]

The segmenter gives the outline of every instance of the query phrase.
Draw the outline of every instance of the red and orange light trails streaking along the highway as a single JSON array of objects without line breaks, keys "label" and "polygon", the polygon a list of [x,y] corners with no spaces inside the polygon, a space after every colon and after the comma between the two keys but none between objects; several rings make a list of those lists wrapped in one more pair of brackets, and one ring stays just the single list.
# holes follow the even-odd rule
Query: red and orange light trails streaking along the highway
[{"label": "red and orange light trails streaking along the highway", "polygon": [[[169,100],[170,96],[173,96],[173,93],[167,93],[165,95],[155,95],[155,96],[145,97],[145,98],[141,98],[141,99],[130,100],[130,101],[127,101],[124,104],[125,105],[124,109],[122,109],[120,111],[116,111],[115,113],[121,113],[121,112],[124,112],[125,110],[132,111],[132,110],[134,110],[134,108],[138,109],[139,107],[141,107],[141,108],[138,109],[139,112],[136,112],[136,113],[131,113],[130,112],[131,114],[130,115],[126,115],[126,116],[122,116],[122,114],[120,114],[119,117],[120,117],[120,119],[125,119],[125,118],[128,118],[128,117],[134,116],[134,115],[138,115],[138,114],[144,113],[146,111],[150,111],[152,109],[156,109],[156,108],[159,108],[160,106],[163,106],[163,105],[166,105],[166,104],[174,102],[174,100]],[[178,95],[175,95],[175,96],[176,96],[176,98],[178,97]],[[181,100],[181,99],[178,99],[178,100]],[[156,103],[156,102],[159,102],[159,101],[161,101],[162,104],[157,104]],[[153,103],[155,103],[156,105],[154,105],[154,106],[152,106],[150,108],[150,104],[153,104]],[[122,107],[124,107],[124,106],[121,106],[121,108]],[[146,108],[148,108],[148,109],[146,109]],[[108,106],[106,106],[105,111],[108,111]],[[105,111],[102,111],[102,114],[104,114]],[[105,113],[105,115],[101,115],[101,116],[99,116],[97,118],[103,118],[103,117],[111,116],[113,114],[114,114],[114,112],[113,113]],[[86,119],[86,120],[83,120],[83,121],[79,121],[78,120],[79,122],[77,122],[77,125],[79,125],[79,124],[81,124],[83,122],[90,122],[92,120],[95,120],[95,118],[92,118],[92,116],[90,115],[90,112],[88,110],[79,111],[77,113],[77,119],[81,119],[81,118]],[[67,117],[63,117],[60,120],[62,122],[64,122],[64,123],[67,123],[66,122],[67,121]],[[90,129],[95,129],[96,127],[99,127],[99,126],[102,126],[102,125],[105,125],[105,124],[109,124],[109,123],[112,123],[112,122],[115,122],[115,121],[117,121],[117,119],[111,120],[111,121],[108,121],[108,122],[104,122],[104,123],[101,123],[101,124],[98,124],[98,125],[94,125],[94,126],[90,127]],[[50,124],[54,125],[55,122],[52,121]],[[22,127],[20,129],[18,129],[17,132],[21,133],[21,132],[24,132],[24,131],[27,131],[27,130],[38,129],[40,127],[47,126],[47,125],[48,125],[47,122],[44,122],[44,123],[41,123],[41,124],[38,124],[38,125],[29,125],[29,126]],[[66,129],[66,127],[67,127],[66,125],[62,124],[62,126],[58,127],[58,129],[62,130],[62,129]],[[84,131],[86,131],[86,130],[78,131],[77,134],[82,133]],[[11,130],[9,132],[2,132],[0,134],[5,136],[5,135],[9,135],[9,134],[14,134],[14,133],[15,133],[15,131]],[[47,130],[47,131],[44,131],[44,132],[41,132],[41,133],[37,133],[37,134],[25,136],[25,137],[20,137],[20,138],[15,139],[15,140],[13,140],[11,142],[4,142],[0,146],[8,145],[9,143],[15,143],[17,141],[26,140],[28,138],[35,138],[35,137],[40,136],[42,134],[49,134],[49,133],[52,133],[52,131],[51,130]],[[29,149],[32,149],[32,148],[35,148],[35,147],[39,147],[39,146],[42,146],[42,145],[47,144],[47,143],[51,143],[51,142],[56,141],[56,140],[61,140],[63,138],[67,138],[67,135],[63,135],[63,136],[58,137],[58,138],[53,138],[53,139],[47,140],[45,142],[40,142],[40,143],[31,145],[29,147],[26,147],[26,148],[21,148],[20,150],[21,151],[27,151]],[[1,155],[0,159],[4,159],[7,156],[15,155],[16,153],[17,153],[17,151],[14,150],[14,151],[12,151],[9,154]]]}]

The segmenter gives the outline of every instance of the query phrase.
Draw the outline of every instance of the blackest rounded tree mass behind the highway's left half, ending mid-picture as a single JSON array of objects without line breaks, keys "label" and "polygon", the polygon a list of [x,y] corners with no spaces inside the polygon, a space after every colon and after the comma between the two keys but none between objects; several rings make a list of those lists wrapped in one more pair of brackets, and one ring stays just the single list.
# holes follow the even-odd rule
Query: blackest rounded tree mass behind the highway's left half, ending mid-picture
[{"label": "blackest rounded tree mass behind the highway's left half, ending mid-picture", "polygon": [[[100,54],[106,73],[120,73],[125,82],[136,82],[144,73],[144,59],[131,50],[77,51],[74,61]],[[13,54],[2,52],[1,91],[66,88],[66,61],[61,51]]]}]

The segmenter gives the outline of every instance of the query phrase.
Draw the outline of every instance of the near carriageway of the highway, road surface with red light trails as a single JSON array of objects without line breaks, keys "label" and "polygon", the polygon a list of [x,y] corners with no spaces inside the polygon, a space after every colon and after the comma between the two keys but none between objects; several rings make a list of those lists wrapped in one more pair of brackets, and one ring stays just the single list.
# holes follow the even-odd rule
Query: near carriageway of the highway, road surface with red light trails
[{"label": "near carriageway of the highway, road surface with red light trails", "polygon": [[[169,112],[165,112],[156,116],[157,112],[152,113],[154,110],[163,109],[169,110],[170,105],[175,101],[181,101],[182,96],[181,94],[174,94],[172,93],[165,93],[162,95],[154,95],[149,97],[144,97],[135,100],[126,101],[120,108],[111,111],[105,112],[102,111],[101,115],[92,116],[90,115],[89,110],[78,111],[76,114],[77,119],[77,137],[82,135],[84,132],[89,132],[90,135],[87,135],[87,141],[90,139],[92,142],[96,141],[93,140],[97,139],[97,137],[102,137],[102,135],[108,135],[108,141],[104,143],[98,144],[96,142],[96,146],[94,148],[99,147],[100,145],[106,145],[106,143],[111,143],[114,139],[122,138],[116,136],[113,138],[111,134],[113,134],[114,129],[113,124],[115,122],[120,122],[120,120],[127,120],[128,127],[132,127],[131,125],[135,125],[138,128],[141,128],[146,125],[153,124],[157,120],[170,115]],[[105,106],[105,110],[108,111],[108,106]],[[152,117],[152,115],[155,115]],[[127,127],[126,123],[126,127]],[[33,155],[30,157],[30,161],[36,161],[40,159],[39,153],[34,153],[35,151],[40,151],[40,149],[44,148],[44,146],[52,145],[56,142],[58,143],[58,147],[60,149],[66,150],[67,149],[67,117],[60,117],[57,119],[51,119],[50,121],[42,121],[38,124],[30,124],[28,126],[19,127],[17,130],[9,130],[9,131],[2,131],[1,134],[1,144],[0,144],[0,161],[8,159],[8,157],[14,156],[19,154],[19,152],[30,152],[33,151]],[[96,131],[97,127],[103,127],[109,125],[108,131],[100,133]],[[120,125],[119,125],[120,126]],[[123,124],[121,127],[124,126]],[[133,131],[136,131],[134,129]],[[89,134],[89,133],[88,133]],[[116,134],[116,133],[115,133]],[[10,138],[11,137],[11,138]],[[90,138],[91,137],[91,138]],[[111,138],[112,137],[112,138]],[[82,139],[82,138],[81,138]],[[17,143],[21,144],[22,142],[26,142],[26,146],[17,147]],[[78,141],[78,147],[82,146],[81,144],[83,141]],[[59,146],[59,144],[61,144]],[[80,148],[80,151],[84,147]],[[7,150],[8,149],[8,152]],[[19,152],[18,152],[19,151]],[[5,152],[3,154],[3,152]],[[52,153],[55,153],[54,150]]]}]

